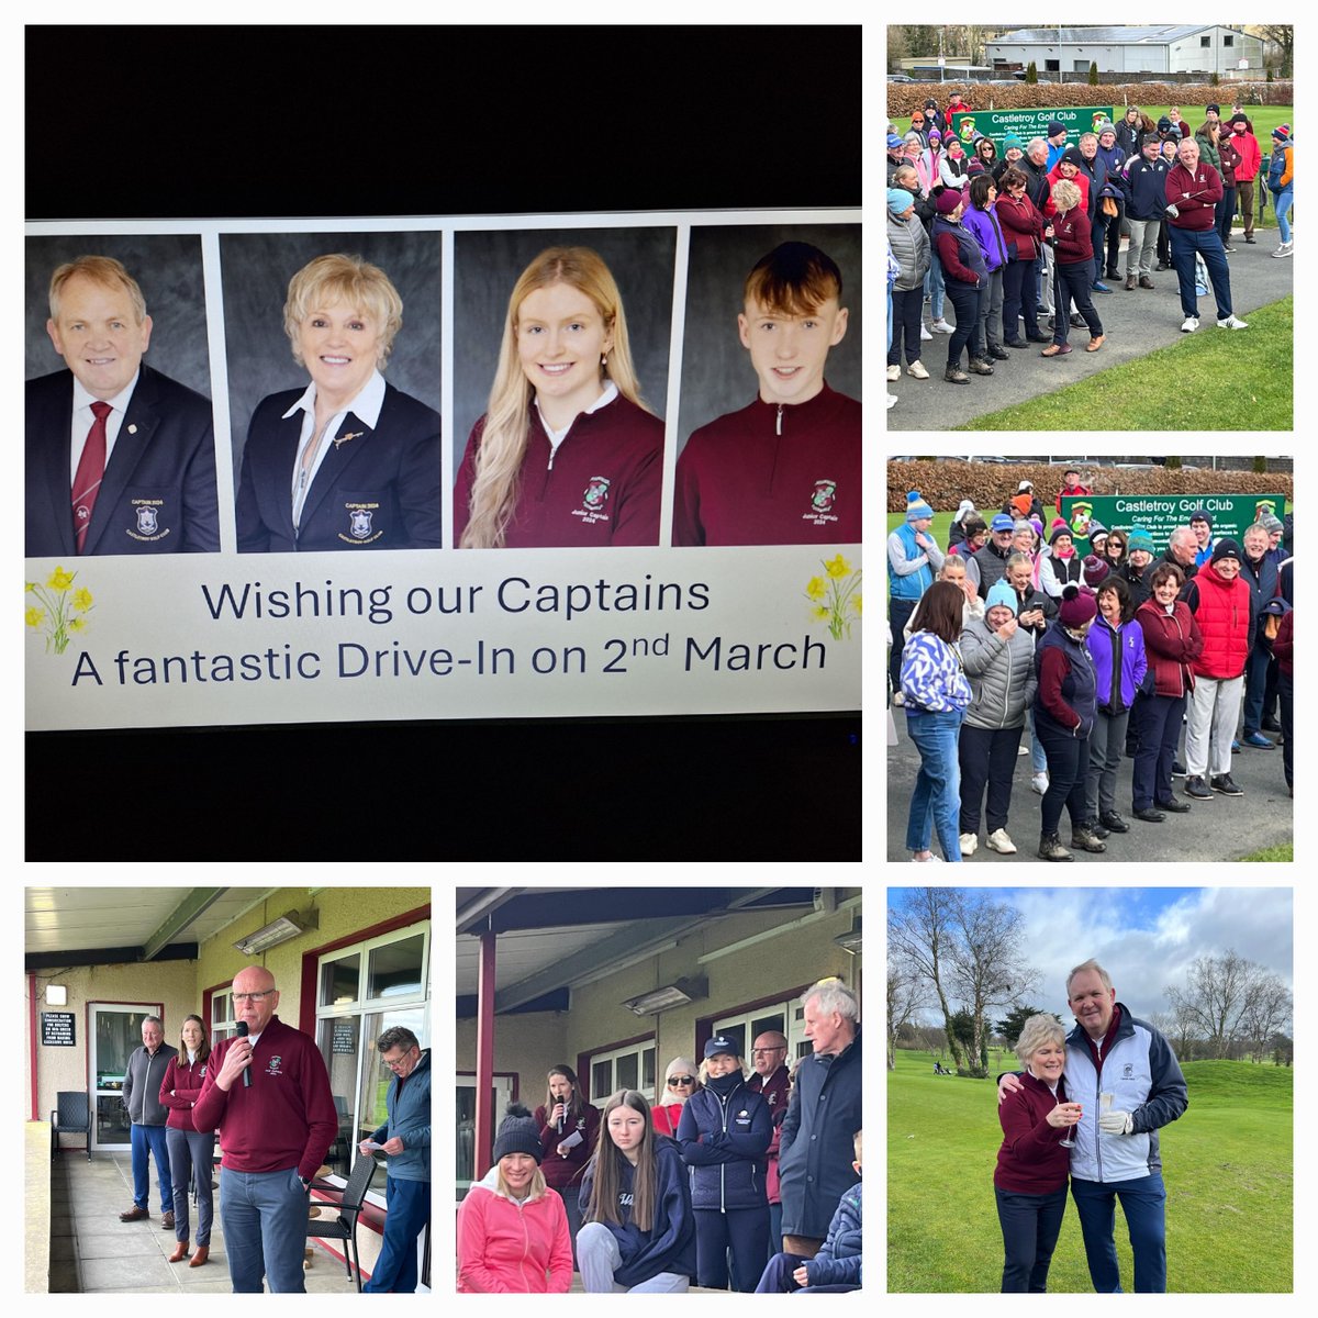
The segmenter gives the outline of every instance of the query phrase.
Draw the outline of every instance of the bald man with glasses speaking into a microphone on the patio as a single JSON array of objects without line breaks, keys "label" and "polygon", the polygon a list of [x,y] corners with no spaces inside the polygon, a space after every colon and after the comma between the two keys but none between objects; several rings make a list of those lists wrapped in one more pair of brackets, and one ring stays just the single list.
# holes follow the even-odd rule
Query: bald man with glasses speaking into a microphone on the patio
[{"label": "bald man with glasses speaking into a microphone on the patio", "polygon": [[279,990],[264,966],[233,978],[233,1012],[248,1036],[216,1044],[199,1131],[221,1135],[220,1219],[233,1292],[304,1293],[302,1251],[311,1180],[339,1133],[324,1060],[310,1035],[274,1014]]}]

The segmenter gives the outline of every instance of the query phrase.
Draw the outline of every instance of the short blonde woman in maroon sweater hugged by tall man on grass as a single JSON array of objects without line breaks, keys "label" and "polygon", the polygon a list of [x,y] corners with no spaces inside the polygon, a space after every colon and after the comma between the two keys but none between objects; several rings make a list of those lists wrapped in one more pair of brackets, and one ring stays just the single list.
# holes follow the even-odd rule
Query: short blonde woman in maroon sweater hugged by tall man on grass
[{"label": "short blonde woman in maroon sweater hugged by tall man on grass", "polygon": [[1021,1087],[1004,1093],[998,1106],[1003,1141],[992,1177],[1006,1249],[1002,1289],[1044,1292],[1066,1213],[1070,1149],[1061,1141],[1079,1122],[1081,1104],[1066,1101],[1066,1033],[1056,1016],[1031,1016],[1016,1056],[1025,1074]]}]

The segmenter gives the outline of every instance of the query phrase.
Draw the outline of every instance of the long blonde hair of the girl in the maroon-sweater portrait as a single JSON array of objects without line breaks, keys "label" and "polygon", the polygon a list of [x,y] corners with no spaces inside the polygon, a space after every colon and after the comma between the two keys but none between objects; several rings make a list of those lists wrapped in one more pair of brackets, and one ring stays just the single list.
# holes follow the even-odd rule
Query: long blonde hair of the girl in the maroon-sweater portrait
[{"label": "long blonde hair of the girl in the maroon-sweater portrait", "polygon": [[517,351],[517,318],[522,303],[536,289],[547,289],[555,283],[567,283],[594,303],[605,332],[613,340],[608,362],[601,362],[601,374],[618,386],[623,398],[639,407],[646,406],[631,364],[622,297],[604,260],[590,248],[560,246],[542,252],[522,272],[507,299],[498,369],[485,407],[481,447],[476,456],[471,515],[459,548],[497,550],[503,546],[503,534],[517,507],[518,477],[530,438],[529,411],[535,393],[522,370]]}]

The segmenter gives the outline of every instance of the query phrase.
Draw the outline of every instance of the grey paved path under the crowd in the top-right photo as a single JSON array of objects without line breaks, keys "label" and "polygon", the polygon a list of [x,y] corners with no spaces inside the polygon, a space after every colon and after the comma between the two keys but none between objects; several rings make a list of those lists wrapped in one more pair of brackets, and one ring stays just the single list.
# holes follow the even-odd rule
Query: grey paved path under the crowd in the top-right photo
[{"label": "grey paved path under the crowd in the top-right photo", "polygon": [[[1236,235],[1235,253],[1227,257],[1231,265],[1232,306],[1242,320],[1248,320],[1249,312],[1257,307],[1277,302],[1292,291],[1294,258],[1277,261],[1271,254],[1277,246],[1277,231],[1260,229],[1257,239],[1249,246],[1243,235]],[[1119,266],[1123,273],[1126,248],[1123,241]],[[1031,344],[1031,351],[1023,352],[1008,348],[1011,360],[995,362],[995,374],[971,376],[969,385],[949,385],[942,378],[948,364],[948,337],[934,335],[932,341],[927,340],[920,345],[920,360],[929,372],[929,378],[912,380],[905,374],[903,360],[902,378],[887,386],[888,393],[902,399],[887,414],[888,430],[950,430],[1012,403],[1052,393],[1119,362],[1144,357],[1156,348],[1189,339],[1189,335],[1181,333],[1185,316],[1181,312],[1176,272],[1156,270],[1152,279],[1156,285],[1152,291],[1137,289],[1127,293],[1123,279],[1120,285],[1110,285],[1110,295],[1093,295],[1094,308],[1103,322],[1106,335],[1101,352],[1083,351],[1089,343],[1089,330],[1072,330],[1070,344],[1074,351],[1065,357],[1040,357],[1044,344]],[[1199,335],[1207,333],[1224,340],[1227,333],[1249,332],[1218,330],[1215,307],[1211,291],[1207,298],[1199,298]],[[950,298],[946,314],[953,316]],[[928,323],[928,307],[925,322]]]}]

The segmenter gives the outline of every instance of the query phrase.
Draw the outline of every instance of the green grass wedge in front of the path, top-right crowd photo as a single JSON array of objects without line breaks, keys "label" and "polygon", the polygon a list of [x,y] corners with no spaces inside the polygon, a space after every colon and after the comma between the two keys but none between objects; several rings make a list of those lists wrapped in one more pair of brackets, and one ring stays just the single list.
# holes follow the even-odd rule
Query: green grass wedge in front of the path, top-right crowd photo
[{"label": "green grass wedge in front of the path, top-right crowd photo", "polygon": [[[1123,430],[1199,430],[1205,416],[1222,416],[1246,430],[1292,430],[1293,335],[1293,298],[1251,311],[1249,332],[1232,336],[1231,370],[1224,372],[1222,336],[1210,315],[1207,333],[1184,335],[1139,361],[956,428],[1107,430],[1120,416]],[[1242,380],[1249,381],[1247,398]],[[1177,409],[1177,394],[1191,397],[1194,406]]]}]

